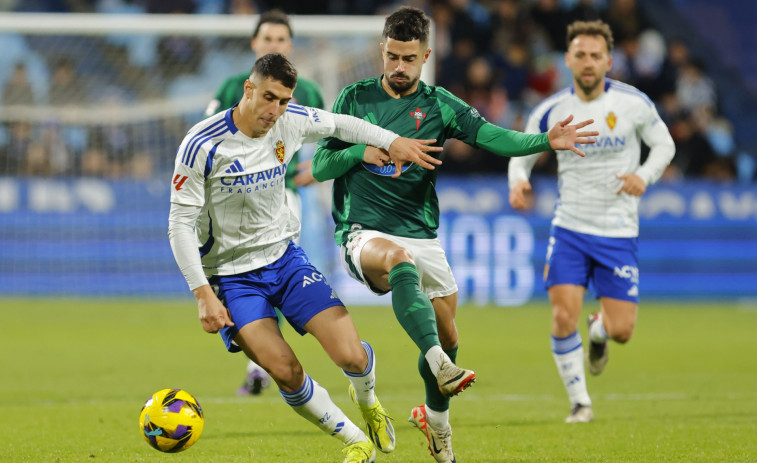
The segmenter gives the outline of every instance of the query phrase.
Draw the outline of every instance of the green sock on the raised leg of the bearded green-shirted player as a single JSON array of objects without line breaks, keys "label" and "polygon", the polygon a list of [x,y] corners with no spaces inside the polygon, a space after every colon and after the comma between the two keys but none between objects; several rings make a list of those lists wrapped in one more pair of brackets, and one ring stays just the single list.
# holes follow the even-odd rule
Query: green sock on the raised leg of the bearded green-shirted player
[{"label": "green sock on the raised leg of the bearded green-shirted player", "polygon": [[389,271],[392,308],[402,328],[425,354],[439,345],[434,306],[418,286],[418,269],[409,262],[397,264]]}]

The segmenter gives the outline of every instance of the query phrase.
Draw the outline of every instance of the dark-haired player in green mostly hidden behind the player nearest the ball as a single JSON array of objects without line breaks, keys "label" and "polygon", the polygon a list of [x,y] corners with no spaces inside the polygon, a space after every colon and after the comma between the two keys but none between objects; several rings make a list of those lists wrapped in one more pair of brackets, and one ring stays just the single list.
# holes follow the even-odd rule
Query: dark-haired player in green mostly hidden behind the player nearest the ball
[{"label": "dark-haired player in green mostly hidden behind the player nearest the ball", "polygon": [[[281,53],[288,56],[292,51],[292,26],[289,18],[281,10],[269,10],[260,15],[255,31],[252,34],[250,48],[255,57],[268,53]],[[205,110],[206,116],[212,116],[219,111],[225,111],[242,99],[244,95],[244,81],[250,77],[249,69],[226,79],[216,92],[213,101]],[[294,89],[294,101],[303,106],[323,109],[323,95],[318,85],[310,80],[297,77],[297,87]],[[310,161],[299,162],[299,152],[295,153],[292,165],[296,169],[287,169],[286,187],[287,203],[302,221],[302,202],[297,194],[297,187],[308,186],[315,183],[310,173]],[[247,364],[247,372],[238,394],[259,394],[271,383],[268,373],[250,360]]]}]

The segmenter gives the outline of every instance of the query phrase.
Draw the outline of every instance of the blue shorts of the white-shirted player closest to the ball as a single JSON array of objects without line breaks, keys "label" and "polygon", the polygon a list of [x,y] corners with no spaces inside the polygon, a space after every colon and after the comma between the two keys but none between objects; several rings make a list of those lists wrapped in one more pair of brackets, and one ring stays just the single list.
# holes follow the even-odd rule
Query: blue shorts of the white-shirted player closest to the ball
[{"label": "blue shorts of the white-shirted player closest to the ball", "polygon": [[304,335],[303,326],[313,316],[344,305],[305,251],[291,242],[276,262],[237,275],[216,275],[209,281],[235,325],[220,331],[229,352],[241,350],[234,337],[243,326],[261,318],[278,318],[275,308]]}]

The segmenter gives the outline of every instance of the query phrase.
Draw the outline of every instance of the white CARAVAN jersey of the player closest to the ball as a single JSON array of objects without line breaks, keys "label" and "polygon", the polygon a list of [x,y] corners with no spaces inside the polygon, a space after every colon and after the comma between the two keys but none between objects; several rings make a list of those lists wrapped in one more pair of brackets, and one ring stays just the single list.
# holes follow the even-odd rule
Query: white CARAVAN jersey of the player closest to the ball
[{"label": "white CARAVAN jersey of the player closest to the ball", "polygon": [[[206,277],[248,272],[284,254],[300,231],[286,200],[289,161],[303,143],[335,135],[344,126],[335,117],[345,116],[289,103],[265,136],[250,138],[235,126],[233,109],[192,127],[176,154],[171,202],[201,208],[194,225],[194,249],[199,248]],[[376,146],[388,147],[397,137],[355,121],[375,127],[362,132]],[[186,248],[174,251],[190,288],[202,284],[185,271],[192,265],[183,257]]]}]

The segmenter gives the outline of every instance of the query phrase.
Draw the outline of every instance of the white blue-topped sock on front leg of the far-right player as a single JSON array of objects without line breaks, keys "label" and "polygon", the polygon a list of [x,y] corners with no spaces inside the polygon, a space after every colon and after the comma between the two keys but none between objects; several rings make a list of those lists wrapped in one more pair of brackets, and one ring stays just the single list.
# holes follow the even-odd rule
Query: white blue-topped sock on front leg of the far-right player
[{"label": "white blue-topped sock on front leg of the far-right player", "polygon": [[591,405],[591,398],[586,390],[584,347],[578,330],[564,338],[552,336],[552,356],[568,392],[571,406]]}]

